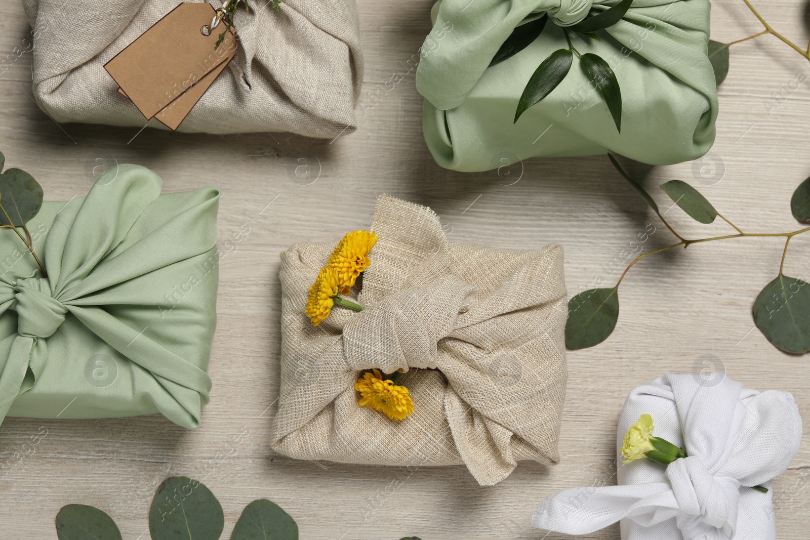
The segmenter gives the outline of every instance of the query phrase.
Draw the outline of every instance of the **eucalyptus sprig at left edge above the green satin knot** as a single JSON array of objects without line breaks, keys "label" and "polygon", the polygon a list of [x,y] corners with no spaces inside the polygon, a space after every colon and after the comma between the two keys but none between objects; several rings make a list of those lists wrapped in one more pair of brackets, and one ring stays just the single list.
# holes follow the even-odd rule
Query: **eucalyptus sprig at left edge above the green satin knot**
[{"label": "eucalyptus sprig at left edge above the green satin knot", "polygon": [[[6,156],[0,153],[0,171],[6,164]],[[10,168],[0,174],[0,228],[13,229],[23,241],[25,247],[31,252],[40,267],[43,278],[48,277],[45,266],[42,266],[40,257],[34,251],[31,232],[28,231],[28,222],[40,211],[42,207],[42,186],[34,177],[19,168]],[[22,229],[25,236],[19,229]]]}]

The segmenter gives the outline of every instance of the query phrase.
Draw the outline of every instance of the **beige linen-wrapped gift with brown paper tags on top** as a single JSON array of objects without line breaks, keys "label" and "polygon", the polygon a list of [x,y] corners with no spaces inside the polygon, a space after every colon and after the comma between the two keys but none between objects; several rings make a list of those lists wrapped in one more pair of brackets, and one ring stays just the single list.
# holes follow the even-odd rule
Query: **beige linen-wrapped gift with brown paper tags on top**
[{"label": "beige linen-wrapped gift with brown paper tags on top", "polygon": [[[285,0],[280,14],[272,2],[251,3],[249,13],[238,9],[237,56],[177,131],[333,138],[356,130],[363,57],[353,2]],[[117,92],[104,64],[178,3],[23,0],[35,40],[36,102],[58,122],[143,127],[143,115]],[[168,130],[154,118],[148,125]]]}]

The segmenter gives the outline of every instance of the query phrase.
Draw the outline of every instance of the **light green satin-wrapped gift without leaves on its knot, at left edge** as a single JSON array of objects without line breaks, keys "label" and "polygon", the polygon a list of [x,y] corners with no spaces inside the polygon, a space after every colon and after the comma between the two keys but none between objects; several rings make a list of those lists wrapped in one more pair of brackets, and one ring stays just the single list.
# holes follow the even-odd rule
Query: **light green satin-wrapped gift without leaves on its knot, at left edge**
[{"label": "light green satin-wrapped gift without leaves on its knot, at left edge", "polygon": [[219,282],[214,188],[160,194],[121,165],[0,230],[0,421],[161,413],[198,427]]}]

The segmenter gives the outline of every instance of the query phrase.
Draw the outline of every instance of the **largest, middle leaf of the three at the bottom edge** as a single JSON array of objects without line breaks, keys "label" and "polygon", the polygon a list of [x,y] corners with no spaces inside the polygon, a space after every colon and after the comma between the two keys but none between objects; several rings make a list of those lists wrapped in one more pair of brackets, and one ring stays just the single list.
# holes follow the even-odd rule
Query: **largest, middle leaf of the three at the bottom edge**
[{"label": "largest, middle leaf of the three at the bottom edge", "polygon": [[149,510],[152,540],[218,540],[225,525],[220,501],[202,483],[166,478]]}]

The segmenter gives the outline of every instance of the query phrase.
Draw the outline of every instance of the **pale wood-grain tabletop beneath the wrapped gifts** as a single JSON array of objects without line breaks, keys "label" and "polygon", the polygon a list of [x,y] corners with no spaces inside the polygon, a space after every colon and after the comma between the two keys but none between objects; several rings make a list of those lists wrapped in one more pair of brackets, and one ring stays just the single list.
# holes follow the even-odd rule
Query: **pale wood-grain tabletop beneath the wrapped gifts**
[{"label": "pale wood-grain tabletop beneath the wrapped gifts", "polygon": [[[0,538],[55,538],[59,508],[81,503],[109,512],[124,538],[145,540],[156,487],[168,475],[181,474],[203,480],[220,498],[223,538],[245,504],[264,497],[295,517],[306,540],[411,534],[424,540],[558,540],[565,537],[531,529],[531,514],[554,491],[615,483],[616,422],[625,396],[637,385],[667,372],[692,372],[696,363],[703,368],[701,356],[715,355],[727,375],[745,385],[792,392],[802,417],[810,419],[810,356],[777,351],[752,321],[753,299],[777,273],[782,244],[727,240],[647,258],[622,284],[612,337],[599,347],[569,351],[558,466],[524,463],[501,484],[479,487],[463,467],[406,470],[274,455],[269,437],[279,389],[279,253],[296,242],[335,241],[347,230],[368,226],[378,193],[431,206],[451,241],[505,248],[560,242],[569,295],[599,276],[608,283],[616,279],[625,266],[622,251],[648,223],[656,232],[646,247],[671,240],[604,157],[532,159],[522,164],[516,183],[516,176],[504,180],[439,168],[422,138],[422,99],[411,69],[429,29],[432,2],[358,3],[366,66],[360,128],[334,141],[57,125],[32,100],[30,53],[0,68],[0,150],[7,166],[40,181],[46,198],[87,193],[87,164],[108,156],[154,169],[165,191],[216,185],[222,189],[220,249],[227,253],[210,368],[214,387],[203,427],[185,431],[162,417],[6,419],[0,427]],[[757,3],[780,32],[807,42],[804,2]],[[714,2],[712,15],[715,40],[761,30],[741,0]],[[29,31],[19,3],[2,2],[0,58]],[[76,39],[80,36],[77,32]],[[810,74],[810,62],[772,36],[735,45],[710,154],[723,166],[723,176],[698,181],[693,171],[710,165],[702,161],[631,171],[644,178],[663,209],[670,203],[654,188],[679,178],[746,230],[795,229],[790,196],[810,174],[810,83],[774,110],[765,104],[799,73]],[[393,74],[404,75],[403,82],[379,91]],[[304,164],[301,158],[318,172],[309,185],[290,172]],[[677,208],[667,218],[688,235],[727,230],[693,223]],[[810,238],[791,242],[786,272],[807,279],[808,254]],[[45,430],[29,451],[30,437]],[[241,444],[232,442],[247,430]],[[790,470],[776,480],[774,496],[778,538],[807,538],[810,436],[804,436]],[[618,527],[588,538],[619,538]]]}]

